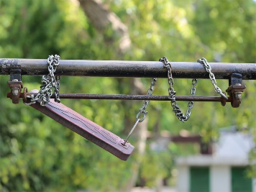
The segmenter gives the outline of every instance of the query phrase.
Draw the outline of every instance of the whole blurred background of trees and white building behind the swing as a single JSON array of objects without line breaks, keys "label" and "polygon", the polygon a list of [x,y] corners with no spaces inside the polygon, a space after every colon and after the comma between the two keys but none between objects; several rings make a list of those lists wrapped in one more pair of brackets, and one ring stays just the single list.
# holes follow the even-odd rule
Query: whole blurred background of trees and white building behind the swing
[{"label": "whole blurred background of trees and white building behind the swing", "polygon": [[[253,0],[0,0],[0,58],[256,63],[255,13]],[[219,192],[237,190],[235,175],[245,183],[238,188],[255,190],[256,81],[243,81],[239,108],[196,102],[185,123],[170,102],[151,101],[125,162],[32,107],[12,104],[7,81],[0,76],[0,191],[218,191],[213,173],[218,178],[224,167],[227,187]],[[29,91],[40,81],[22,77]],[[64,76],[60,93],[145,94],[150,81]],[[222,91],[229,86],[217,83]],[[176,96],[191,94],[191,79],[174,79],[173,86]],[[154,94],[168,95],[167,78],[157,79]],[[216,96],[209,79],[198,80],[196,95]],[[122,138],[143,104],[61,102]],[[185,113],[187,102],[178,105]],[[232,162],[237,157],[242,163]]]}]

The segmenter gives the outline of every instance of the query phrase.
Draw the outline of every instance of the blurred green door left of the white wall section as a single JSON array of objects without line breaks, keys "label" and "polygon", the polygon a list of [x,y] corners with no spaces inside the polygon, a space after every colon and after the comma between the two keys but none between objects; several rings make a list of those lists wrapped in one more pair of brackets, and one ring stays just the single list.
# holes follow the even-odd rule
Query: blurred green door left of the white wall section
[{"label": "blurred green door left of the white wall section", "polygon": [[209,192],[209,167],[190,168],[190,192]]}]

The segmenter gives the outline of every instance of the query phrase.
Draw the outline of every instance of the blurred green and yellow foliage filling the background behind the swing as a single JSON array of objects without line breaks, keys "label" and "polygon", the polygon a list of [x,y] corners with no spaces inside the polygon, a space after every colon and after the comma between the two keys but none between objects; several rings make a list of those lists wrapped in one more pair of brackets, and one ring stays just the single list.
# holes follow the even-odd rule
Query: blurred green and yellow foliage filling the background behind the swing
[{"label": "blurred green and yellow foliage filling the background behind the swing", "polygon": [[[132,47],[118,58],[116,45],[104,43],[104,35],[88,22],[76,1],[0,0],[0,58],[47,58],[91,60],[196,61],[205,57],[235,63],[256,63],[254,1],[145,1],[105,0],[129,28]],[[235,10],[235,11],[234,11]],[[113,37],[112,37],[113,36]],[[135,155],[127,162],[84,140],[79,135],[24,104],[6,99],[8,76],[0,76],[0,191],[121,191],[131,176]],[[29,90],[40,88],[40,77],[24,76]],[[63,77],[61,93],[130,93],[127,79]],[[145,88],[150,79],[142,79]],[[227,81],[217,81],[222,90]],[[232,109],[216,103],[196,103],[191,119],[178,122],[166,102],[151,101],[149,131],[178,134],[187,129],[205,140],[216,140],[218,127],[237,124],[255,129],[256,83],[245,81],[242,105]],[[191,80],[175,79],[177,95],[189,95]],[[168,94],[167,79],[158,79],[154,94]],[[216,93],[209,80],[198,80],[196,95]],[[121,101],[63,100],[63,104],[124,136],[125,116],[134,118],[142,102],[124,109]],[[186,103],[178,102],[185,112]],[[173,157],[182,147],[155,153],[147,142],[140,176],[148,186],[157,176],[170,178]],[[182,152],[181,152],[182,153]],[[184,153],[183,153],[184,154]],[[252,155],[252,157],[254,157]],[[255,157],[254,157],[255,158]],[[157,176],[156,176],[157,175]]]}]

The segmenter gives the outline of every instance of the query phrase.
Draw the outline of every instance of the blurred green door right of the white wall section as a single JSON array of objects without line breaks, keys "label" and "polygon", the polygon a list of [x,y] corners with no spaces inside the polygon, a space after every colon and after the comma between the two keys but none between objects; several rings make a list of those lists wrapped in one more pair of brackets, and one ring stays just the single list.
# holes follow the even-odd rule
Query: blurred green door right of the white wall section
[{"label": "blurred green door right of the white wall section", "polygon": [[234,167],[232,172],[232,192],[252,192],[252,178],[247,178],[246,168]]}]

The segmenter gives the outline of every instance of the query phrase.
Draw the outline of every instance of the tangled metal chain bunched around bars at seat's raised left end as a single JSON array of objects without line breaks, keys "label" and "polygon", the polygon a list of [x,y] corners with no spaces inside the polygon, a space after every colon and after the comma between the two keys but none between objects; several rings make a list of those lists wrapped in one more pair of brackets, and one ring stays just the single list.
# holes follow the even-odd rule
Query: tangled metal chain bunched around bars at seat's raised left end
[{"label": "tangled metal chain bunched around bars at seat's raised left end", "polygon": [[49,55],[49,58],[47,58],[49,74],[42,76],[42,86],[40,86],[40,91],[36,96],[33,94],[27,96],[27,98],[30,98],[30,102],[25,104],[35,104],[35,102],[40,99],[41,106],[45,106],[50,101],[50,97],[52,96],[52,87],[54,88],[55,102],[60,103],[59,89],[61,77],[57,76],[55,78],[54,76],[57,66],[60,65],[59,61],[59,55]]}]

